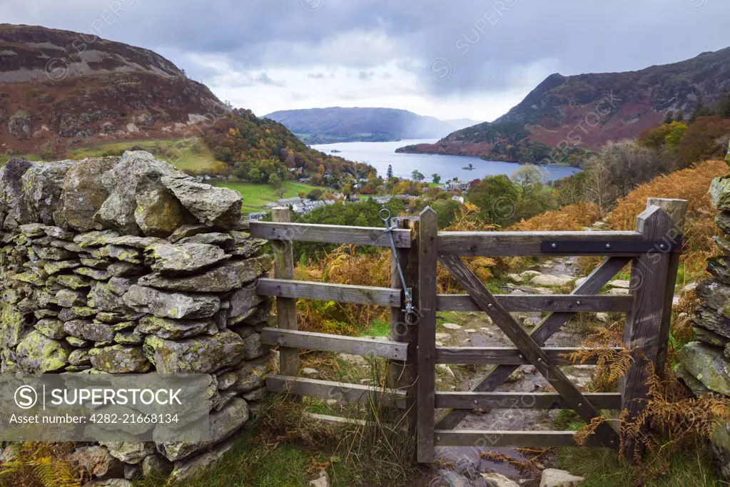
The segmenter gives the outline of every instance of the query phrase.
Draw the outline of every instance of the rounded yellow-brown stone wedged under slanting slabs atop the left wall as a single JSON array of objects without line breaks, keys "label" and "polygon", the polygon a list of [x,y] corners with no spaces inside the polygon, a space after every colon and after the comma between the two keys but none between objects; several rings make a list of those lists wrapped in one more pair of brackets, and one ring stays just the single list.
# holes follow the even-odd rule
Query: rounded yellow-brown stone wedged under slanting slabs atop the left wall
[{"label": "rounded yellow-brown stone wedged under slanting slabs atop the left wall", "polygon": [[156,187],[137,195],[134,221],[145,235],[166,238],[180,225],[196,222],[196,219],[172,192]]}]

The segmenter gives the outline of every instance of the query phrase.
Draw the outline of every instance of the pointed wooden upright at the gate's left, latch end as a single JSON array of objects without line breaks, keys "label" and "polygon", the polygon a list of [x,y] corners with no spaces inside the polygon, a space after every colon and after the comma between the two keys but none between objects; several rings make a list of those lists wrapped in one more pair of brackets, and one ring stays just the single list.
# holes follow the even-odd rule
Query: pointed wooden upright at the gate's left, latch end
[{"label": "pointed wooden upright at the gate's left, latch end", "polygon": [[427,206],[420,212],[418,230],[418,440],[417,459],[434,461],[434,424],[436,406],[436,211]]}]

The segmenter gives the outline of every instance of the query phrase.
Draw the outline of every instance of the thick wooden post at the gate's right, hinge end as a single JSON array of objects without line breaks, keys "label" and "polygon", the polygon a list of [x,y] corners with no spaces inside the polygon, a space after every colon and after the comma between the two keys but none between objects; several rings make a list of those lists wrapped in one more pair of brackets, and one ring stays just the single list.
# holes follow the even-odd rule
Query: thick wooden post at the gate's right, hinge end
[{"label": "thick wooden post at the gate's right, hinge end", "polygon": [[[648,398],[650,370],[653,365],[658,372],[659,356],[662,350],[664,333],[669,334],[669,319],[671,318],[672,292],[674,281],[671,277],[669,262],[671,254],[667,252],[671,246],[669,242],[673,235],[674,224],[672,217],[659,206],[648,204],[647,208],[637,217],[637,231],[642,233],[645,240],[664,241],[657,244],[645,254],[635,257],[631,262],[631,280],[629,289],[634,296],[634,304],[626,315],[626,326],[623,330],[623,343],[631,350],[634,362],[620,384],[621,408],[624,421],[635,421]],[[676,278],[676,270],[674,272]],[[666,294],[669,292],[669,298]],[[666,305],[669,303],[669,309]],[[666,316],[665,316],[666,315]],[[666,330],[664,329],[666,318]],[[666,351],[666,347],[664,348]],[[646,426],[646,425],[644,425]],[[645,429],[642,428],[642,429]],[[624,458],[632,459],[642,454],[637,450],[635,438],[626,434],[626,423],[622,424],[622,453]]]}]

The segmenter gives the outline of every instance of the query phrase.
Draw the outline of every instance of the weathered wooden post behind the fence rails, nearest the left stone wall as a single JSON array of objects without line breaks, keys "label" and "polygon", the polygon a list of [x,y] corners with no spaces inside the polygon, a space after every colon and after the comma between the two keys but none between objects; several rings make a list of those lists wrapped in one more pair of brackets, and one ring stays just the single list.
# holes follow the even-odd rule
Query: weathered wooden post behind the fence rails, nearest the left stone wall
[{"label": "weathered wooden post behind the fence rails, nearest the left stone wall", "polygon": [[[272,209],[274,222],[291,222],[291,210],[287,206]],[[272,240],[274,247],[274,278],[294,278],[294,252],[291,240]],[[276,315],[279,328],[297,330],[296,299],[292,297],[276,298]],[[296,377],[299,375],[299,348],[279,348],[279,373]]]}]

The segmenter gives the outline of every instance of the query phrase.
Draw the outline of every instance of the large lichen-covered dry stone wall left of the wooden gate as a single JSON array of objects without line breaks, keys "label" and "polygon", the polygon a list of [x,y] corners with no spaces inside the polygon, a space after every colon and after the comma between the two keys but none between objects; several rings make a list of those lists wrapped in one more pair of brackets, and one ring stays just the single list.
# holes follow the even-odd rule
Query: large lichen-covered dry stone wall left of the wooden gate
[{"label": "large lichen-covered dry stone wall left of the wooden gate", "polygon": [[265,394],[271,308],[254,284],[271,258],[239,221],[239,194],[126,152],[12,159],[0,195],[3,373],[204,373],[218,384],[210,440],[105,443],[74,459],[99,483],[183,479],[230,448]]}]

